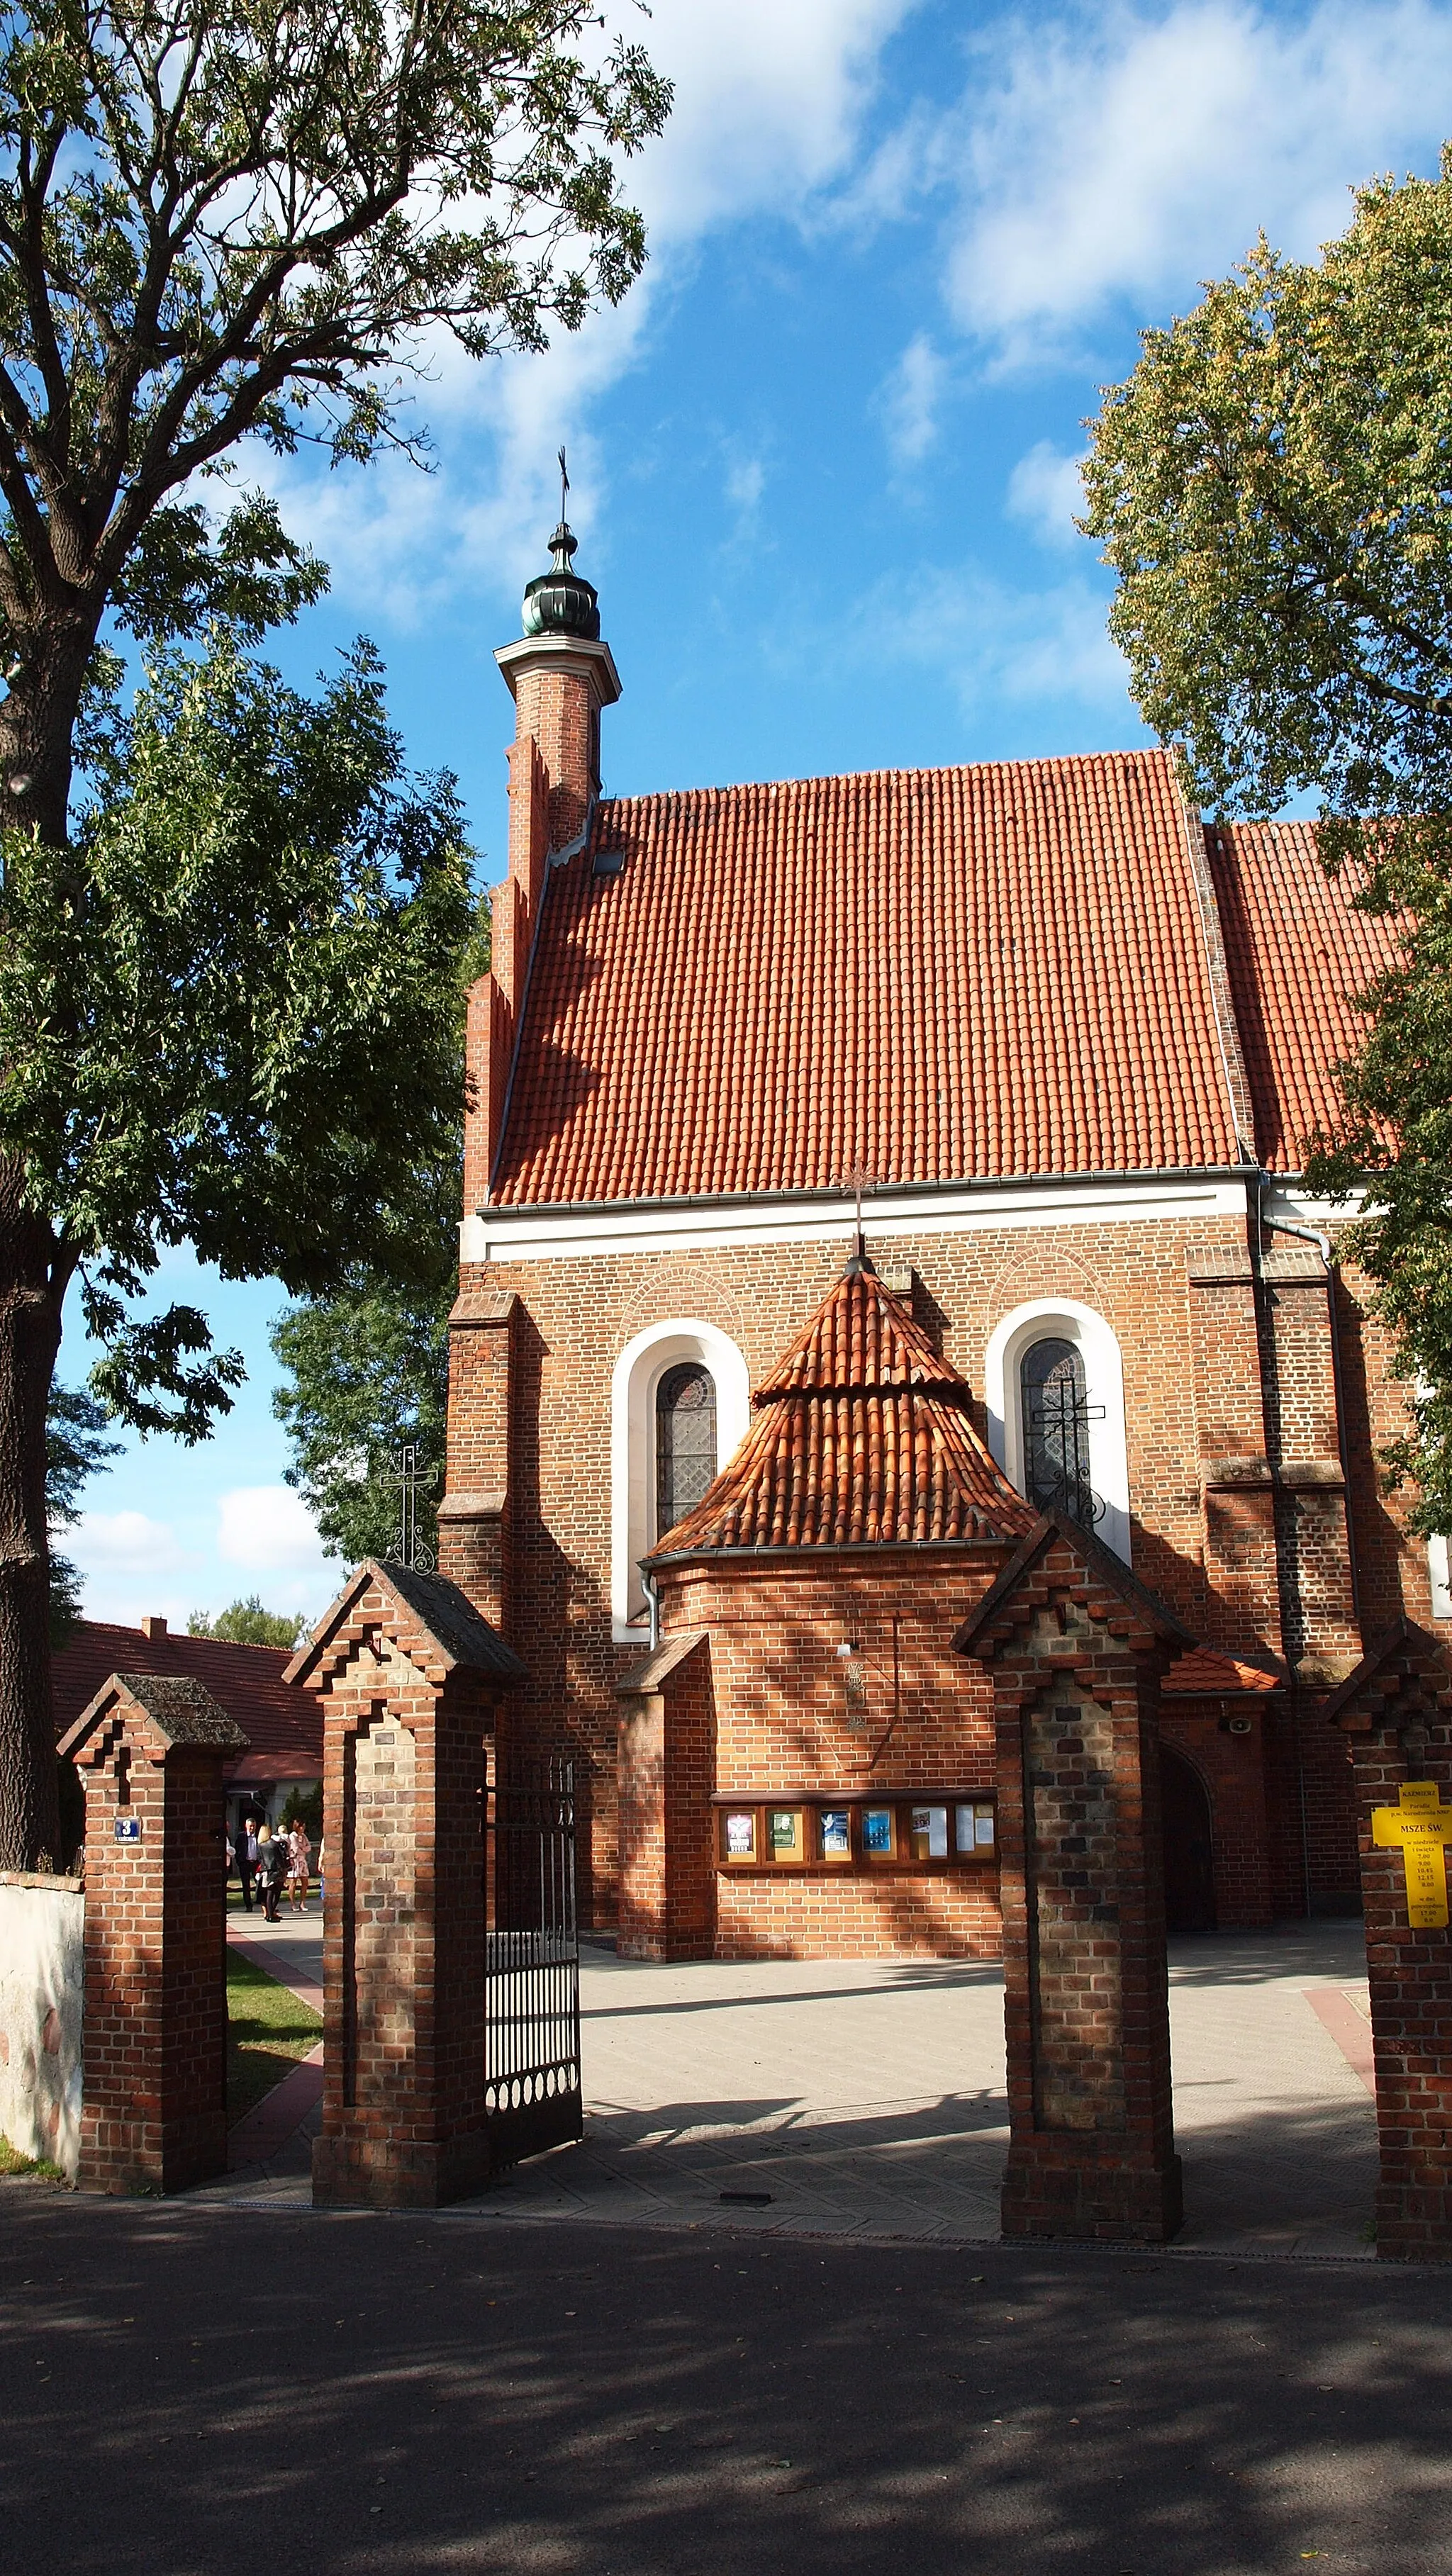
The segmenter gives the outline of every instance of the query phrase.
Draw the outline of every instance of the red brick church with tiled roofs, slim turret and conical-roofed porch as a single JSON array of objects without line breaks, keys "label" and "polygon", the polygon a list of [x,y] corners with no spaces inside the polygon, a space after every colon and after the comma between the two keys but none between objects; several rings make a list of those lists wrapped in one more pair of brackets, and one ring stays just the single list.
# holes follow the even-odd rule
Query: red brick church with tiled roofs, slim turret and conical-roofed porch
[{"label": "red brick church with tiled roofs, slim turret and conical-roofed porch", "polygon": [[1336,1685],[1444,1543],[1300,1172],[1385,925],[1166,752],[602,799],[559,528],[497,662],[440,1571],[644,1958],[999,1950],[955,1633],[1043,1512],[1184,1631],[1177,1929],[1357,1909]]}]

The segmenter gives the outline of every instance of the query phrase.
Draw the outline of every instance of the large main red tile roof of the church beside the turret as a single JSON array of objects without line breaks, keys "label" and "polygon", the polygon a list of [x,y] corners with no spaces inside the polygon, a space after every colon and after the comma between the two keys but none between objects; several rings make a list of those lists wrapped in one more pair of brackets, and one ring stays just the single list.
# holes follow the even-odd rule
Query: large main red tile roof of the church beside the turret
[{"label": "large main red tile roof of the church beside the turret", "polygon": [[1164,752],[602,804],[492,1195],[1236,1164],[1197,863]]}]

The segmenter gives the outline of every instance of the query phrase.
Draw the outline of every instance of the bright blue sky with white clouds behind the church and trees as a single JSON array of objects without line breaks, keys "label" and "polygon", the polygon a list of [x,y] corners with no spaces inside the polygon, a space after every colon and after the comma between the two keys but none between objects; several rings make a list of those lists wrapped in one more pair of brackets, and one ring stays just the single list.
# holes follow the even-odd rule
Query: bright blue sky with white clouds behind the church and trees
[{"label": "bright blue sky with white clouds behind the church and trees", "polygon": [[[651,265],[543,358],[435,355],[435,471],[257,461],[332,595],[278,659],[353,634],[409,757],[458,773],[502,873],[492,649],[546,562],[569,443],[579,569],[623,698],[605,786],[919,768],[1143,739],[1074,533],[1074,459],[1135,335],[1256,229],[1310,255],[1377,170],[1437,167],[1452,8],[1017,10],[942,0],[628,0],[605,15],[677,82],[631,167]],[[273,1283],[185,1257],[250,1381],[201,1450],[129,1443],[72,1553],[93,1618],[317,1613],[340,1566],[283,1486]],[[67,1345],[62,1376],[85,1352]]]}]

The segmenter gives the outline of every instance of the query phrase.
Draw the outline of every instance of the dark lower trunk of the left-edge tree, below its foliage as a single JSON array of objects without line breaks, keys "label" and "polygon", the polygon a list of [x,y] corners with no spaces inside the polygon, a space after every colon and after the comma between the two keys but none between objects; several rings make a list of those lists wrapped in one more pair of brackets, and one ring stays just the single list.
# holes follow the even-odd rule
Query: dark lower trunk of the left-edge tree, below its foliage
[{"label": "dark lower trunk of the left-edge tree, below its foliage", "polygon": [[54,1239],[0,1164],[0,1868],[59,1865],[46,1404],[59,1350]]}]

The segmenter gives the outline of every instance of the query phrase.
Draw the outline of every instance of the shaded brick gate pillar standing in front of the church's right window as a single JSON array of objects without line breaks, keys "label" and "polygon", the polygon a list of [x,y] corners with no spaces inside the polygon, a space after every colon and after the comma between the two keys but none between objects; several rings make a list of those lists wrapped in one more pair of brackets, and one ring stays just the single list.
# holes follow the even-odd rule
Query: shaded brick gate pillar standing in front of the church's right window
[{"label": "shaded brick gate pillar standing in front of the church's right window", "polygon": [[1045,1515],[955,1646],[994,1677],[1009,2161],[1004,2236],[1174,2236],[1159,1682],[1189,1643]]}]

